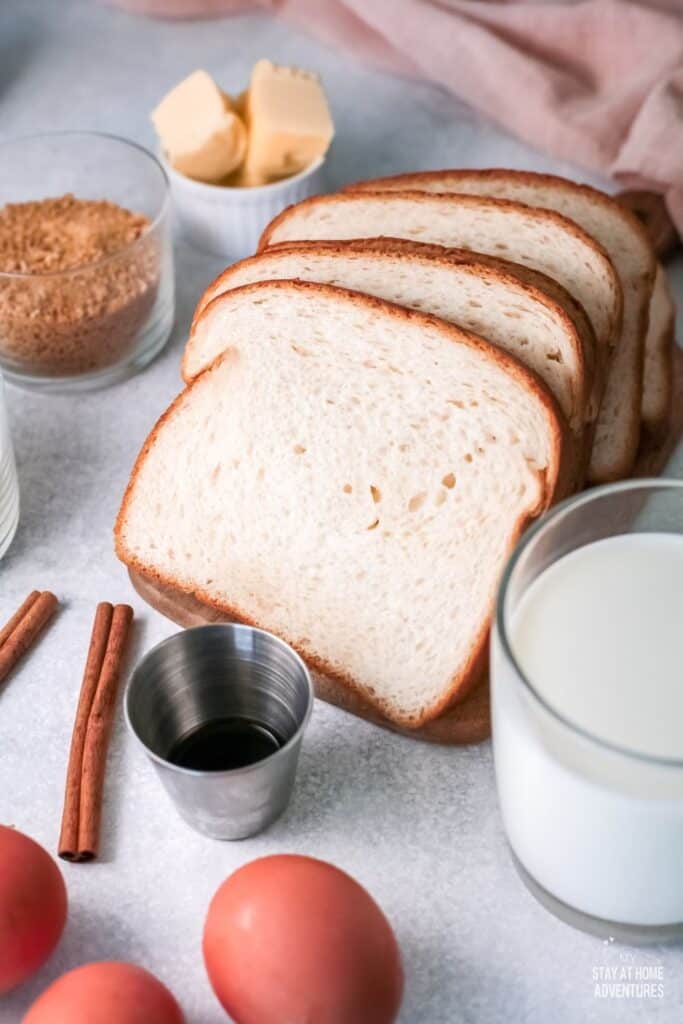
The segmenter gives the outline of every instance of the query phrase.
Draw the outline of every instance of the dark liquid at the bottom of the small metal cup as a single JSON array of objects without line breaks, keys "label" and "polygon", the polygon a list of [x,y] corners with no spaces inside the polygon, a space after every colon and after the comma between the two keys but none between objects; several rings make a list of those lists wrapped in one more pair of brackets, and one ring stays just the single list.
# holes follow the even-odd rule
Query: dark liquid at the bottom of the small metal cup
[{"label": "dark liquid at the bottom of the small metal cup", "polygon": [[196,771],[227,771],[262,761],[285,742],[269,726],[255,719],[217,718],[181,736],[167,760]]}]

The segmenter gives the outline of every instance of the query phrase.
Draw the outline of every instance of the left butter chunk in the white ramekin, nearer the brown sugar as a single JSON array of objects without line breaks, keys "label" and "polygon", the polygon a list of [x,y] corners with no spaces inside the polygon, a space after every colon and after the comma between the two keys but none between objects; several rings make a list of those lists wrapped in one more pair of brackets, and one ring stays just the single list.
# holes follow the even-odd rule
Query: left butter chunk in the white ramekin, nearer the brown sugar
[{"label": "left butter chunk in the white ramekin, nearer the brown sugar", "polygon": [[194,72],[171,89],[152,120],[171,166],[188,178],[220,181],[244,160],[244,122],[205,71]]}]

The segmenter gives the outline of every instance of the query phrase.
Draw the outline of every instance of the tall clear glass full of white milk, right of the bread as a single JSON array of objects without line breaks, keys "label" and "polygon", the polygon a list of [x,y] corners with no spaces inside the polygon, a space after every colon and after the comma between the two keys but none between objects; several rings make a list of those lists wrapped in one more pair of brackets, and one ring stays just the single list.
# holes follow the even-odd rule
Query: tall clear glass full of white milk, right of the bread
[{"label": "tall clear glass full of white milk, right of the bread", "polygon": [[683,936],[683,481],[595,488],[524,535],[492,637],[499,801],[559,918]]}]

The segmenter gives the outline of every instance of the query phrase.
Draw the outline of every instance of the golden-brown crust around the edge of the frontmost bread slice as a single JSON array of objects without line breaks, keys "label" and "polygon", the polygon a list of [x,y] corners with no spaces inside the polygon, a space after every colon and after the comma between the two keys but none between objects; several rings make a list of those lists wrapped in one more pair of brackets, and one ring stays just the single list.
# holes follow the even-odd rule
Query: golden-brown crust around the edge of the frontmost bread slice
[{"label": "golden-brown crust around the edge of the frontmost bread slice", "polygon": [[[418,313],[412,309],[407,309],[403,306],[396,305],[394,303],[385,302],[382,299],[377,299],[374,296],[362,295],[358,292],[351,292],[345,289],[333,288],[327,285],[311,284],[308,282],[269,282],[267,287],[269,289],[275,289],[282,291],[284,295],[288,293],[292,294],[309,294],[312,296],[319,295],[321,293],[329,294],[334,297],[337,301],[346,301],[352,303],[353,306],[360,312],[373,310],[375,312],[379,311],[383,315],[394,318],[397,324],[404,324],[407,321],[415,321],[418,325],[424,327],[429,326],[432,330],[438,331],[446,340],[452,341],[454,344],[464,344],[478,352],[480,352],[484,357],[493,359],[494,362],[498,364],[506,373],[511,375],[519,384],[524,386],[536,398],[540,401],[544,409],[546,419],[549,426],[550,434],[550,459],[549,466],[545,472],[541,473],[542,476],[542,487],[541,497],[539,500],[539,505],[537,508],[527,509],[519,517],[519,520],[512,525],[510,530],[510,544],[509,552],[516,544],[519,536],[521,535],[527,523],[535,518],[537,515],[545,511],[554,501],[561,497],[564,497],[565,489],[568,486],[567,468],[566,468],[566,452],[567,452],[567,440],[568,440],[568,428],[564,423],[564,419],[557,403],[553,396],[548,392],[543,383],[536,377],[536,375],[523,367],[522,364],[518,362],[513,356],[504,352],[502,349],[497,348],[489,342],[472,335],[454,325],[446,324],[444,321],[439,319],[436,316],[431,316],[425,313]],[[254,285],[246,285],[239,289],[240,292],[250,292],[256,291],[258,294],[259,290],[263,289],[262,283]],[[237,291],[237,290],[236,290]],[[233,293],[232,293],[233,294]],[[216,302],[226,301],[225,296],[220,296],[218,299],[214,300]],[[190,585],[184,584],[177,577],[170,574],[165,574],[160,572],[154,566],[146,565],[140,559],[134,555],[130,550],[128,550],[125,542],[125,523],[128,514],[128,509],[132,501],[133,492],[137,482],[137,478],[140,473],[140,469],[146,460],[150,452],[159,441],[160,435],[163,428],[167,422],[169,422],[175,414],[183,407],[185,402],[190,400],[193,393],[196,389],[201,388],[205,377],[213,373],[216,368],[218,368],[226,358],[229,358],[229,353],[225,352],[218,356],[214,362],[208,367],[203,373],[201,373],[191,384],[189,384],[179,395],[171,402],[166,412],[159,418],[157,423],[152,429],[152,432],[144,441],[142,449],[135,461],[131,477],[128,481],[128,485],[124,493],[123,501],[119,514],[117,516],[116,525],[114,529],[115,536],[115,547],[118,557],[124,562],[129,568],[134,571],[139,572],[141,575],[152,580],[155,584],[161,585],[163,587],[170,587],[179,591],[180,593],[189,594],[196,597],[198,600],[202,601],[204,604],[210,607],[216,608],[221,613],[234,618],[239,622],[247,623],[248,625],[257,626],[259,628],[267,629],[267,624],[261,624],[250,616],[246,615],[242,609],[230,605],[228,602],[221,602],[212,595],[206,593],[201,588],[196,588]],[[297,648],[296,644],[293,644],[295,649],[298,650],[304,659],[309,664],[314,671],[321,672],[324,675],[329,676],[335,682],[341,685],[347,686],[353,692],[358,693],[365,700],[372,703],[374,707],[389,718],[396,724],[403,726],[405,728],[418,728],[425,722],[436,718],[445,708],[450,707],[452,703],[462,699],[471,692],[472,688],[481,678],[482,672],[486,665],[487,656],[487,638],[489,632],[490,615],[493,614],[495,603],[495,595],[492,595],[489,613],[482,622],[476,637],[473,639],[472,646],[470,648],[470,655],[467,658],[465,665],[461,670],[454,674],[447,687],[445,687],[441,697],[435,700],[428,708],[422,710],[418,715],[400,715],[395,711],[395,709],[388,708],[385,701],[379,700],[372,695],[370,695],[365,688],[362,683],[358,680],[346,676],[343,673],[338,672],[332,666],[328,665],[325,659],[316,655],[311,655],[308,651],[302,651]],[[288,639],[288,642],[291,642]]]}]

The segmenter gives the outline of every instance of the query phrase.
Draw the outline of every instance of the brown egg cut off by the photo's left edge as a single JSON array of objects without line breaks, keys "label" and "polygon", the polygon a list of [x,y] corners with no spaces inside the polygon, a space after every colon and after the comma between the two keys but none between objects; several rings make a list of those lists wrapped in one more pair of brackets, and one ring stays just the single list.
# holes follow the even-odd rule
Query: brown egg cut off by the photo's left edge
[{"label": "brown egg cut off by the photo's left edge", "polygon": [[67,888],[42,846],[0,825],[0,994],[50,955],[67,921]]}]

